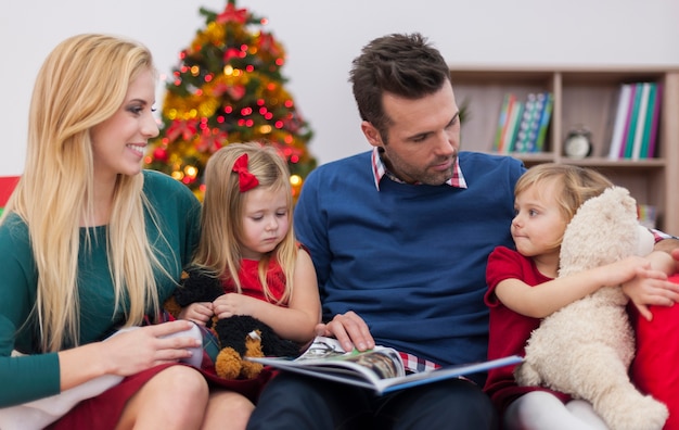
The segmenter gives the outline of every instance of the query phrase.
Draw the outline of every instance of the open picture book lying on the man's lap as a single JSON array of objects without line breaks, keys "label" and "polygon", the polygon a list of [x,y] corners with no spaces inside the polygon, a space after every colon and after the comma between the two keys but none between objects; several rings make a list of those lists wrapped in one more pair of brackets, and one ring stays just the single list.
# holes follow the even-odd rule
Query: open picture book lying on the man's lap
[{"label": "open picture book lying on the man's lap", "polygon": [[347,352],[342,349],[336,339],[324,337],[317,337],[306,352],[294,359],[286,357],[246,358],[281,370],[372,389],[377,394],[487,371],[522,361],[520,356],[512,355],[489,362],[448,366],[406,375],[400,355],[392,347],[375,346],[366,352],[357,350]]}]

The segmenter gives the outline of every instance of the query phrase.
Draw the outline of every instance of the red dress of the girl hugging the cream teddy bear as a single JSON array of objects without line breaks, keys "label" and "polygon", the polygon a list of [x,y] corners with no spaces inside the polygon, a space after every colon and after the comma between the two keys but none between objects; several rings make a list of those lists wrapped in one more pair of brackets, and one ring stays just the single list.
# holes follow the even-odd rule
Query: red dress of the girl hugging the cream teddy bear
[{"label": "red dress of the girl hugging the cream teddy bear", "polygon": [[[539,318],[517,314],[498,301],[495,288],[504,279],[521,279],[531,287],[552,280],[537,270],[533,260],[516,251],[498,246],[490,253],[486,268],[488,291],[484,298],[490,308],[488,359],[514,354],[524,356],[530,333],[540,325]],[[488,371],[484,391],[500,414],[504,413],[511,402],[531,391],[547,391],[564,403],[571,400],[567,394],[543,387],[518,387],[513,375],[515,367],[505,366]]]}]

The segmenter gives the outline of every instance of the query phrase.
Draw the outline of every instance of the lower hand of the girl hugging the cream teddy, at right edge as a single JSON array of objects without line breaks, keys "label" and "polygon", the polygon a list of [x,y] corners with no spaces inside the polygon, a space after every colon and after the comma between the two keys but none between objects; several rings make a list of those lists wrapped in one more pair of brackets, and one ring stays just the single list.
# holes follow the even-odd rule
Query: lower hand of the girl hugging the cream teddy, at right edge
[{"label": "lower hand of the girl hugging the cream teddy, at right edge", "polygon": [[623,284],[623,291],[645,319],[653,318],[650,305],[672,306],[679,302],[679,284],[668,281],[665,273],[639,268],[637,274]]}]

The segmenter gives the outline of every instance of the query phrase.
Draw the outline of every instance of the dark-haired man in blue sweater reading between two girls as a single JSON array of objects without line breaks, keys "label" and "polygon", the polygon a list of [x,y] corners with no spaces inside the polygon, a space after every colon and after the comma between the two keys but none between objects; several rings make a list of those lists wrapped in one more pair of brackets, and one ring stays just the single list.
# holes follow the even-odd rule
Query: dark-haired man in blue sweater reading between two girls
[{"label": "dark-haired man in blue sweater reading between two girls", "polygon": [[[460,152],[460,110],[441,54],[419,34],[366,46],[350,72],[371,152],[318,167],[295,208],[317,270],[319,333],[346,350],[392,346],[410,371],[486,359],[485,269],[511,246],[507,156]],[[377,396],[281,374],[249,429],[494,429],[485,375]]]}]

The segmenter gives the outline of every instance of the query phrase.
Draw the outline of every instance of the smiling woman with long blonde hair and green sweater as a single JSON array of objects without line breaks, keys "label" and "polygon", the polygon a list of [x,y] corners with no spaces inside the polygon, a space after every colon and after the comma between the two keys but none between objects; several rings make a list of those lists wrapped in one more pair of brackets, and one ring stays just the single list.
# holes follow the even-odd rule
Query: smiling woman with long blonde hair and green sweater
[{"label": "smiling woman with long blonde hair and green sweater", "polygon": [[200,219],[187,188],[141,168],[158,134],[155,83],[143,46],[106,35],[64,40],[38,74],[0,222],[0,417],[105,378],[112,388],[50,428],[223,429],[249,416],[245,397],[177,365],[201,351],[190,321],[143,324],[158,322]]}]

